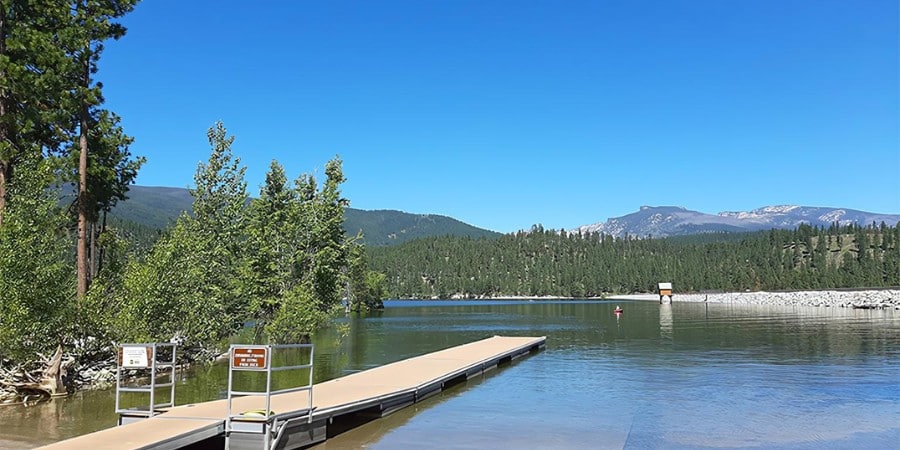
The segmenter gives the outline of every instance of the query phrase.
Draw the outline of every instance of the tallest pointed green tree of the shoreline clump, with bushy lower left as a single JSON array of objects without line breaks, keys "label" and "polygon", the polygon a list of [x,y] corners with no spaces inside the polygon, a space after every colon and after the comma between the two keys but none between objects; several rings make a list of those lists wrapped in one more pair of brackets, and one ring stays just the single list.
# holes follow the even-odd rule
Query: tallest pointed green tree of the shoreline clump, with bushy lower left
[{"label": "tallest pointed green tree of the shoreline clump, with bushy lower left", "polygon": [[183,214],[122,280],[119,334],[131,340],[213,345],[240,326],[245,305],[239,268],[247,203],[245,169],[221,122],[208,133],[212,152],[194,177],[194,216]]}]

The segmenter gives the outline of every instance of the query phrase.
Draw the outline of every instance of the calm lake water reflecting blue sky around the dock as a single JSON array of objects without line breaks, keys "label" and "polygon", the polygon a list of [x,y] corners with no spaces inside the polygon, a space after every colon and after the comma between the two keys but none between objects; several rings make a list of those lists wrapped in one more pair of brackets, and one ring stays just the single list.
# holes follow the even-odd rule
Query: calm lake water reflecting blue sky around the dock
[{"label": "calm lake water reflecting blue sky around the dock", "polygon": [[[625,314],[616,317],[616,304]],[[320,449],[897,448],[900,312],[596,301],[388,302],[316,338],[315,378],[493,335],[546,350]],[[223,398],[185,374],[178,404]],[[0,448],[114,426],[114,392],[0,407]]]}]

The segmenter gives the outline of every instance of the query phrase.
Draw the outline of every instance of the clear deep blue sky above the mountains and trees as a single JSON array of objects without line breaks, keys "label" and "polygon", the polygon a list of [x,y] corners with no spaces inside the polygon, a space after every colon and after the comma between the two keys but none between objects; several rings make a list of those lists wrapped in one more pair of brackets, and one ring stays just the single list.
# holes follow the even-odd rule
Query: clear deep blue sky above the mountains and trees
[{"label": "clear deep blue sky above the mountains and trees", "polygon": [[900,213],[896,0],[147,0],[98,79],[187,187],[344,161],[359,209],[501,232],[677,205]]}]

